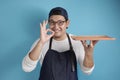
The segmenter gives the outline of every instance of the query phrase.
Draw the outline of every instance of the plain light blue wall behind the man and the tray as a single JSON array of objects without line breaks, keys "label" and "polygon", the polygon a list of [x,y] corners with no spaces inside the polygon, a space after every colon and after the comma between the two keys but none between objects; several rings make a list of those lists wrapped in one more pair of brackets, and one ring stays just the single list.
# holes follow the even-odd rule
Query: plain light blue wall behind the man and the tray
[{"label": "plain light blue wall behind the man and the tray", "polygon": [[38,80],[40,65],[26,73],[21,62],[56,6],[69,13],[68,33],[117,38],[96,45],[95,69],[88,76],[78,68],[79,80],[120,80],[120,0],[0,0],[0,80]]}]

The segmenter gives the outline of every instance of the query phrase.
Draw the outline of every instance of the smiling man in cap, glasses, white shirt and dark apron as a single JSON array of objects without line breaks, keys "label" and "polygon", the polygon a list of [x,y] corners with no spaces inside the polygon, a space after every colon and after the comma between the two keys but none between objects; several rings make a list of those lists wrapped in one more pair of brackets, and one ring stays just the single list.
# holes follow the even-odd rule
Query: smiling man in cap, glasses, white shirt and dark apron
[{"label": "smiling man in cap, glasses, white shirt and dark apron", "polygon": [[42,65],[39,80],[78,80],[77,63],[84,73],[93,71],[93,49],[97,41],[88,45],[86,41],[72,39],[66,33],[69,23],[64,8],[55,7],[50,11],[48,21],[40,23],[40,39],[23,59],[24,71],[34,70],[38,61]]}]

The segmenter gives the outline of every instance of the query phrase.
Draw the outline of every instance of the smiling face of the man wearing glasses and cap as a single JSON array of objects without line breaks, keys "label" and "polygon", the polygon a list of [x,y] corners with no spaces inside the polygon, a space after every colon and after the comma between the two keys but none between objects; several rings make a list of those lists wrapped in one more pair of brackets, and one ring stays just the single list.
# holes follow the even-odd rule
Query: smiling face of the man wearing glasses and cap
[{"label": "smiling face of the man wearing glasses and cap", "polygon": [[66,34],[66,28],[69,25],[69,21],[61,15],[52,15],[49,19],[50,29],[55,32],[54,37],[61,37]]}]

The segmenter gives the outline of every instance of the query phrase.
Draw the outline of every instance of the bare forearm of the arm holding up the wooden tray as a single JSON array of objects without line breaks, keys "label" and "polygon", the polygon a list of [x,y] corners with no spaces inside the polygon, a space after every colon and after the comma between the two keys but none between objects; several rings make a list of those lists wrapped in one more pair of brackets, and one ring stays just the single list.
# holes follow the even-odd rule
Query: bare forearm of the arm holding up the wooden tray
[{"label": "bare forearm of the arm holding up the wooden tray", "polygon": [[83,65],[87,68],[92,68],[94,65],[93,54],[85,53]]}]

